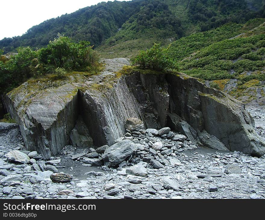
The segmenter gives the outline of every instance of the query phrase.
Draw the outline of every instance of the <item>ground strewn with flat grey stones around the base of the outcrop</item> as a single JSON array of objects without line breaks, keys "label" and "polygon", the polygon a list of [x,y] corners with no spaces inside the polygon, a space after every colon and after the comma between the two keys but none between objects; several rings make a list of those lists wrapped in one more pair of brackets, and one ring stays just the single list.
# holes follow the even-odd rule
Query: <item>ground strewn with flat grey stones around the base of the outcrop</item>
[{"label": "ground strewn with flat grey stones around the base of the outcrop", "polygon": [[[250,109],[257,132],[265,137],[263,111]],[[87,163],[91,161],[89,156],[97,153],[92,149],[66,146],[57,157],[43,161],[35,152],[26,151],[17,125],[0,123],[0,133],[2,199],[265,198],[265,159],[240,152],[198,148],[186,140],[179,141],[182,144],[178,144],[182,146],[178,145],[178,148],[171,150],[172,147],[166,142],[176,146],[176,141],[160,136],[156,137],[157,142],[162,142],[163,147],[168,146],[167,149],[159,149],[159,144],[149,144],[147,148],[138,150],[131,162],[122,162],[118,168],[103,166],[103,169],[99,169]],[[140,143],[149,143],[154,138],[149,133],[142,139],[138,138]],[[126,134],[125,137],[126,140],[118,140],[117,143],[131,140],[137,142],[138,134]],[[4,156],[15,149],[29,156],[21,154],[19,157],[27,163],[15,163]],[[156,153],[154,149],[157,149]],[[83,152],[86,155],[72,160],[73,155]],[[98,153],[97,157],[101,156]],[[147,162],[142,161],[148,157],[145,159]],[[52,182],[50,175],[58,172],[71,174],[73,179],[67,183]]]}]

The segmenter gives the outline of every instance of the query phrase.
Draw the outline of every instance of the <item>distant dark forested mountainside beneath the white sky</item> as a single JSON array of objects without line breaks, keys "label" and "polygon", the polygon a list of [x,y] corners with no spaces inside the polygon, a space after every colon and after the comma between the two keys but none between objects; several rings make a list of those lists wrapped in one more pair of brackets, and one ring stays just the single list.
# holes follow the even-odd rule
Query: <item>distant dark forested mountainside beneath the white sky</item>
[{"label": "distant dark forested mountainside beneath the white sky", "polygon": [[[166,45],[191,33],[264,16],[264,0],[134,0],[101,2],[46,20],[22,36],[0,40],[5,53],[19,46],[41,48],[58,33],[87,40],[105,57],[129,57],[154,41]],[[117,46],[118,45],[118,46]],[[115,47],[116,46],[116,47]],[[126,51],[128,53],[126,54]]]}]

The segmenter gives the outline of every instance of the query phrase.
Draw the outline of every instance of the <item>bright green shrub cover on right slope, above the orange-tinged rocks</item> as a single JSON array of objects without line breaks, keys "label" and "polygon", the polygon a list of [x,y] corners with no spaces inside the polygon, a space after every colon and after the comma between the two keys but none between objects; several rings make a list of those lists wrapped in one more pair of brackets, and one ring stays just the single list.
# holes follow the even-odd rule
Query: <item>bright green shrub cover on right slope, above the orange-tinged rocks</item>
[{"label": "bright green shrub cover on right slope, above the orange-tinged rocks", "polygon": [[[237,37],[223,39],[232,36],[231,27],[235,26],[235,30],[238,30],[236,35],[242,29],[251,26],[250,23],[260,22],[264,22],[264,19],[253,20],[241,27],[236,24],[225,25],[214,31],[197,33],[180,39],[169,47],[170,55],[179,60],[180,71],[205,80],[237,78],[244,71],[264,70],[264,24]],[[197,43],[190,44],[190,39]],[[185,50],[182,51],[181,48]],[[182,52],[176,53],[177,51]],[[184,56],[187,57],[183,59]],[[245,80],[253,78],[265,80],[265,75],[252,75],[245,77]]]}]

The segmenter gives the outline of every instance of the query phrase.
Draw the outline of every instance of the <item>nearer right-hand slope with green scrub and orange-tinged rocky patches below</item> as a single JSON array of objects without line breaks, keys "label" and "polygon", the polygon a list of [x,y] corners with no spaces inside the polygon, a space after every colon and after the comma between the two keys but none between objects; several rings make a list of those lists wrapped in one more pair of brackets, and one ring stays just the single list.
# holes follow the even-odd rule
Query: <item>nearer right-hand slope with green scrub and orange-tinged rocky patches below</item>
[{"label": "nearer right-hand slope with green scrub and orange-tinged rocky patches below", "polygon": [[265,104],[265,19],[181,38],[169,46],[169,52],[179,61],[181,72],[246,104]]}]

